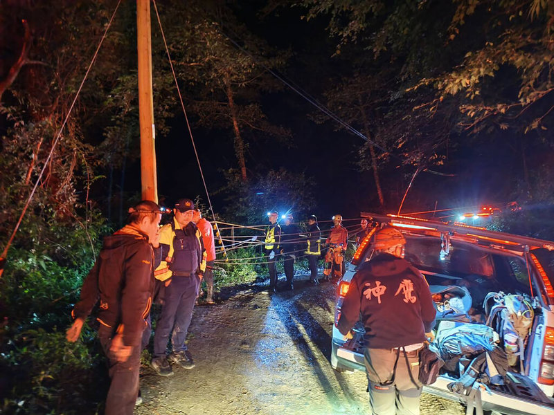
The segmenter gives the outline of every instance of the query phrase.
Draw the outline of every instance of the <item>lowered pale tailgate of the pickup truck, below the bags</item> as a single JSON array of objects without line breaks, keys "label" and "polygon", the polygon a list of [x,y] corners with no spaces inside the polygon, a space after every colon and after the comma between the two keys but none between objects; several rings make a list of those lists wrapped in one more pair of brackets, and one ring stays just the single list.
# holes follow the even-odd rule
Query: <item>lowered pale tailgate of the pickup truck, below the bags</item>
[{"label": "lowered pale tailgate of the pickup truck, below the bags", "polygon": [[[346,347],[339,347],[339,349],[337,349],[337,356],[339,359],[343,360],[344,363],[348,362],[346,366],[350,369],[366,370],[364,355],[358,351],[353,351]],[[542,402],[540,398],[534,398],[532,396],[534,389],[531,385],[525,385],[525,381],[521,381],[524,378],[526,377],[521,376],[521,379],[513,379],[515,380],[515,382],[513,382],[515,385],[512,387],[512,393],[488,389],[482,390],[481,401],[483,403],[483,409],[494,410],[508,415],[554,415],[554,401],[548,400],[547,398],[548,402]],[[465,403],[467,400],[465,396],[454,394],[449,391],[447,387],[450,382],[454,382],[455,380],[456,379],[449,378],[448,376],[439,376],[434,384],[424,386],[423,391],[428,394],[440,396],[441,398]],[[535,385],[530,379],[528,379],[528,382],[529,384]],[[535,388],[538,389],[536,385]],[[506,389],[507,392],[510,392],[508,388]]]}]

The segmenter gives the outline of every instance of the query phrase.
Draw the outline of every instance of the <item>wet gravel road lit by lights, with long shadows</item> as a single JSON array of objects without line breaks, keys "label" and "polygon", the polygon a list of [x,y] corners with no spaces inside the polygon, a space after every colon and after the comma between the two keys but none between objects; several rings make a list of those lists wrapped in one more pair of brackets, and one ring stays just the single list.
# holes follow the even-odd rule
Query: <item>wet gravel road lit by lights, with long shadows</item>
[{"label": "wet gravel road lit by lights, with long shadows", "polygon": [[[329,363],[336,286],[295,283],[269,295],[245,288],[216,305],[195,307],[188,347],[196,367],[141,378],[139,415],[368,414],[364,373]],[[424,394],[422,415],[465,414]]]}]

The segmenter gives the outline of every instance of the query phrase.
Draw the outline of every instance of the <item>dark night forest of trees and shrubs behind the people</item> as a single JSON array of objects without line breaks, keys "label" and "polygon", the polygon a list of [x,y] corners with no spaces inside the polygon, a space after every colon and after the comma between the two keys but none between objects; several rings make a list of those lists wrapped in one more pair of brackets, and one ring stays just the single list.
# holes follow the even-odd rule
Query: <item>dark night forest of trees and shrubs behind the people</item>
[{"label": "dark night forest of trees and shrubs behind the people", "polygon": [[[46,160],[117,4],[0,2],[0,248],[44,168],[0,279],[6,414],[84,413],[83,400],[94,413],[104,393],[84,376],[100,367],[93,330],[74,346],[64,330],[101,237],[140,199],[134,1]],[[554,239],[554,1],[157,8],[219,219],[396,212],[413,180],[402,212],[492,205],[492,228]],[[152,61],[160,201],[206,208],[153,3]]]}]

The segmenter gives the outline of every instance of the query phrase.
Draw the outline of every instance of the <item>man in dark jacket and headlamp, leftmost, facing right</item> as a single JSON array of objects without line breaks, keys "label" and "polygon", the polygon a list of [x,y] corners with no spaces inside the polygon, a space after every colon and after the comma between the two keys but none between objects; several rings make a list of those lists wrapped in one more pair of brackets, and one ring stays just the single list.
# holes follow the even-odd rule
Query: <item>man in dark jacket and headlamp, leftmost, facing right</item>
[{"label": "man in dark jacket and headlamp, leftmost, facing right", "polygon": [[141,201],[129,209],[128,224],[105,237],[71,313],[75,321],[66,339],[75,342],[84,320],[100,300],[98,339],[108,358],[111,380],[106,415],[132,415],[137,403],[141,340],[152,305],[154,268],[161,255],[160,219],[159,205],[152,201]]}]

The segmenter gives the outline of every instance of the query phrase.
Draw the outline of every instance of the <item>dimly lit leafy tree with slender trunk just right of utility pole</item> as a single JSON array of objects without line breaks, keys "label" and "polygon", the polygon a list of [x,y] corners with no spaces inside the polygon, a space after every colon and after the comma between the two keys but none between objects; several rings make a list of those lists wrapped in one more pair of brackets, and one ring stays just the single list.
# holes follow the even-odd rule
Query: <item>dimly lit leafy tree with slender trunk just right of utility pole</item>
[{"label": "dimly lit leafy tree with slender trunk just right of utility pole", "polygon": [[253,37],[220,1],[191,2],[186,10],[169,7],[163,24],[197,125],[233,132],[240,176],[246,181],[247,137],[259,140],[269,134],[286,140],[290,135],[269,121],[260,104],[262,92],[278,89],[267,68],[282,65],[286,55]]}]

